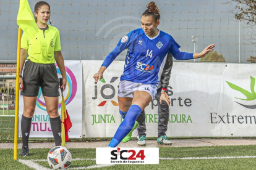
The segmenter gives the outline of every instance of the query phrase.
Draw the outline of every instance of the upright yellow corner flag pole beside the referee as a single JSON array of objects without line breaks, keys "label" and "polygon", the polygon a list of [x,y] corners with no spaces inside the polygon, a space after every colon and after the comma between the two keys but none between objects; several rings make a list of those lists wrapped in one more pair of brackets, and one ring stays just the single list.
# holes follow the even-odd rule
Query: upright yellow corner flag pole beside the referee
[{"label": "upright yellow corner flag pole beside the referee", "polygon": [[21,29],[18,31],[18,45],[17,45],[17,66],[16,66],[16,89],[15,89],[15,123],[14,123],[14,160],[17,160],[18,155],[18,127],[19,127],[19,87],[20,87],[20,41]]}]

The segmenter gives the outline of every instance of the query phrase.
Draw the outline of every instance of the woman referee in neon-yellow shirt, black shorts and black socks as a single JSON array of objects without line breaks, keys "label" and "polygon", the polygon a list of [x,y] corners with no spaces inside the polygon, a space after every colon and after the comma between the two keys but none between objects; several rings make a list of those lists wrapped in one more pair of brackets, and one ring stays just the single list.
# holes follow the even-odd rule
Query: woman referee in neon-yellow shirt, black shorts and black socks
[{"label": "woman referee in neon-yellow shirt, black shorts and black socks", "polygon": [[[67,82],[59,31],[57,28],[47,25],[51,15],[49,4],[45,1],[37,2],[34,14],[38,34],[31,39],[23,33],[20,49],[20,94],[23,95],[24,100],[21,120],[22,151],[20,155],[23,156],[28,156],[28,137],[39,87],[41,87],[45,98],[55,145],[61,145],[61,120],[58,113],[59,79],[54,65],[55,60],[63,78],[61,87],[65,89]],[[27,52],[28,60],[23,70]],[[23,76],[21,75],[22,70]]]}]

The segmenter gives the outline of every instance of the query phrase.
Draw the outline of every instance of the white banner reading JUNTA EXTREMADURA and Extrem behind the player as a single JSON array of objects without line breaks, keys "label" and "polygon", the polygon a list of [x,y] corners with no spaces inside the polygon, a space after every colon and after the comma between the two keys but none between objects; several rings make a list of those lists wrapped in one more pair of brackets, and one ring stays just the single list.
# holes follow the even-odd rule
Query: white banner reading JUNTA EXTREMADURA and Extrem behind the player
[{"label": "white banner reading JUNTA EXTREMADURA and Extrem behind the player", "polygon": [[[105,82],[93,75],[102,61],[83,61],[83,137],[113,137],[122,119],[117,92],[124,62],[113,62]],[[167,136],[255,136],[254,65],[174,63],[168,86],[171,99]],[[147,136],[158,134],[157,101],[145,108]],[[136,136],[137,132],[133,132]]]}]

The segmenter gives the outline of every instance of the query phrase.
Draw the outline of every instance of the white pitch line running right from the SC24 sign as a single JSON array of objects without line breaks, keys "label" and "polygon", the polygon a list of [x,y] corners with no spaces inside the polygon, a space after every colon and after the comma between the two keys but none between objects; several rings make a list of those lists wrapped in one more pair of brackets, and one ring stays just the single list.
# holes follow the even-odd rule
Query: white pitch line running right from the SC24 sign
[{"label": "white pitch line running right from the SC24 sign", "polygon": [[215,156],[215,157],[184,157],[184,158],[159,158],[160,160],[217,160],[217,159],[256,158],[256,156]]}]

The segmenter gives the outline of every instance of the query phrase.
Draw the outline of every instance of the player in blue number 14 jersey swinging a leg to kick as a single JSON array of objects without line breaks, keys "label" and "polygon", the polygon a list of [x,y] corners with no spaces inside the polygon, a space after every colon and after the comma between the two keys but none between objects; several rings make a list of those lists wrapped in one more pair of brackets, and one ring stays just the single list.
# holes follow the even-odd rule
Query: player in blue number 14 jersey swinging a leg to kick
[{"label": "player in blue number 14 jersey swinging a leg to kick", "polygon": [[104,60],[98,73],[93,75],[97,82],[103,73],[124,49],[128,49],[124,72],[120,78],[118,102],[119,112],[124,121],[108,147],[116,147],[130,132],[142,110],[155,97],[157,86],[163,71],[166,56],[170,52],[177,60],[197,59],[213,51],[215,44],[200,53],[179,51],[179,44],[173,37],[157,29],[160,13],[155,2],[150,2],[141,18],[142,28],[131,31],[122,37],[117,46]]}]

